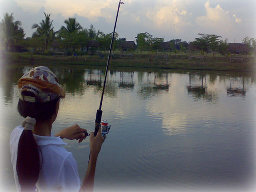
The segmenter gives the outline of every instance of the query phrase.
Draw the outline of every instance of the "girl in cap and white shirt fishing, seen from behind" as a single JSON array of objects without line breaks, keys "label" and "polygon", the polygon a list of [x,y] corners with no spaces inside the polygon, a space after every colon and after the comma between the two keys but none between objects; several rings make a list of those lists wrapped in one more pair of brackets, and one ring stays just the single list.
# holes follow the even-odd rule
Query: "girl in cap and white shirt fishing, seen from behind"
[{"label": "girl in cap and white shirt fishing, seen from behind", "polygon": [[96,161],[104,138],[90,133],[90,160],[82,185],[76,161],[66,151],[63,138],[86,138],[86,129],[77,124],[52,135],[65,92],[56,75],[47,67],[32,68],[18,81],[18,112],[25,120],[10,136],[10,152],[17,191],[85,191],[93,190]]}]

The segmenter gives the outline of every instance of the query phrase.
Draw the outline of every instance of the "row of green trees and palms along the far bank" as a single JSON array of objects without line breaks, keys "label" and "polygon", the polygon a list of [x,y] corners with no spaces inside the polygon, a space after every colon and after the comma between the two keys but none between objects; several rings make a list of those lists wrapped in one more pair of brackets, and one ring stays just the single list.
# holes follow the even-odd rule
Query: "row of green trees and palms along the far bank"
[{"label": "row of green trees and palms along the far bank", "polygon": [[[72,55],[74,51],[86,46],[90,40],[96,40],[100,45],[100,50],[108,50],[112,38],[112,33],[105,34],[104,32],[94,28],[91,24],[90,28],[83,28],[76,18],[68,18],[64,20],[66,26],[62,26],[60,30],[54,31],[53,20],[50,19],[50,14],[44,13],[44,19],[39,24],[33,24],[32,29],[36,31],[32,37],[24,38],[25,33],[21,27],[20,21],[14,21],[13,14],[4,14],[4,18],[0,22],[0,40],[6,50],[9,51],[22,51],[22,50],[40,50],[47,52],[52,42],[61,42],[62,46],[69,48]],[[221,36],[215,34],[198,34],[200,37],[195,38],[190,42],[201,53],[208,54],[212,52],[215,56],[217,52],[225,55],[228,53],[228,39],[220,40]],[[114,48],[118,47],[120,41],[126,38],[118,38],[118,33],[114,35],[116,43]],[[136,36],[136,48],[143,52],[154,51],[158,48],[160,42],[164,42],[164,38],[153,37],[148,32],[139,33]],[[172,39],[168,41],[168,50],[173,51],[175,54],[178,51],[184,53],[190,44],[181,39]],[[252,52],[256,52],[256,39],[246,37],[243,42],[248,45]]]}]

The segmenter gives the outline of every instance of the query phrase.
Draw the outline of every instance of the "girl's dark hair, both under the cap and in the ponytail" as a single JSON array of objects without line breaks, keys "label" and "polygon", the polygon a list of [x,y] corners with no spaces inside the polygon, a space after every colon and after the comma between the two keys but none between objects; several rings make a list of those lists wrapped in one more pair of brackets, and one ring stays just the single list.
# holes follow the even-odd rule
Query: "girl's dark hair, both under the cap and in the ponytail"
[{"label": "girl's dark hair, both under the cap and in the ponytail", "polygon": [[[25,96],[34,96],[32,92],[23,92]],[[18,102],[18,112],[24,118],[27,116],[35,118],[37,122],[50,120],[56,112],[56,104],[60,98],[44,103]],[[35,191],[35,185],[40,171],[40,148],[36,144],[31,130],[23,130],[17,154],[16,170],[20,183],[20,190],[23,192]],[[42,155],[42,154],[41,154]],[[42,162],[41,162],[42,164]]]}]

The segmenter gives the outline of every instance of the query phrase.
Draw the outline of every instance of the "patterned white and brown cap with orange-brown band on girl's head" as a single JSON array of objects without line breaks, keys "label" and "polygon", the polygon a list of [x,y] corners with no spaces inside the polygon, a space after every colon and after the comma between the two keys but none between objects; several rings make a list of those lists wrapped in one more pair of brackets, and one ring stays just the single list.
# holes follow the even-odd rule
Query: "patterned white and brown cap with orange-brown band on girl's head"
[{"label": "patterned white and brown cap with orange-brown band on girl's head", "polygon": [[[28,102],[48,102],[58,97],[65,97],[56,75],[45,66],[30,69],[18,81],[20,99]],[[25,96],[23,92],[32,92],[35,97]]]}]

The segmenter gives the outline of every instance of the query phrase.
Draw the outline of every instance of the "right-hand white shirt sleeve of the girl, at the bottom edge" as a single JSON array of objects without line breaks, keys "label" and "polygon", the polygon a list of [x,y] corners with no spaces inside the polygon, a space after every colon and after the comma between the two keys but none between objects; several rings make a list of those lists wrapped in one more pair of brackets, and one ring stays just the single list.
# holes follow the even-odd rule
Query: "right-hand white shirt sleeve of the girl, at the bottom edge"
[{"label": "right-hand white shirt sleeve of the girl, at the bottom edge", "polygon": [[66,156],[60,167],[57,186],[60,186],[62,192],[78,192],[81,187],[78,176],[76,161],[72,154]]}]

